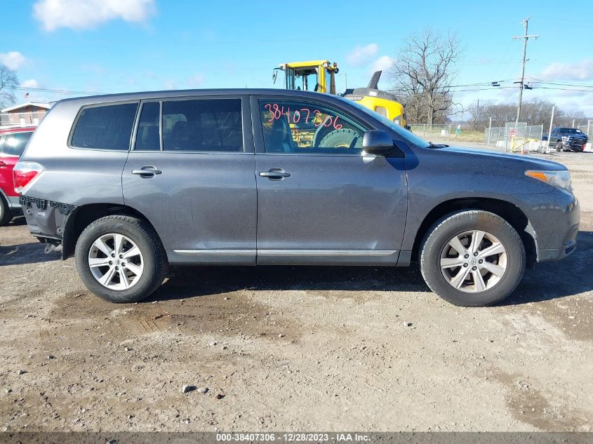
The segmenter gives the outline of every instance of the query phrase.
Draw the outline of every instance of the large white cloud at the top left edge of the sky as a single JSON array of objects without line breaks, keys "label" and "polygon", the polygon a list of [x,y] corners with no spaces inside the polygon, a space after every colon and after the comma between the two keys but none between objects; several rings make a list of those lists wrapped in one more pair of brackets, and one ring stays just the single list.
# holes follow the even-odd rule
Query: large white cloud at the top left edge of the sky
[{"label": "large white cloud at the top left edge of the sky", "polygon": [[114,19],[145,22],[154,10],[154,0],[37,0],[33,16],[46,31],[55,31],[88,29]]}]

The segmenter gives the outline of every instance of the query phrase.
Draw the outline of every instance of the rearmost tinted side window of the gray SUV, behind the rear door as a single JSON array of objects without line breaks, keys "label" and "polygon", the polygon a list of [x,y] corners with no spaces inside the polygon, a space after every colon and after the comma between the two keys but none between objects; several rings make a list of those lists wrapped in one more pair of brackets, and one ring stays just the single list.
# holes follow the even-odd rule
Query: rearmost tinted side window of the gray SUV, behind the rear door
[{"label": "rearmost tinted side window of the gray SUV, behind the rear door", "polygon": [[127,151],[138,103],[82,110],[72,134],[72,147]]}]

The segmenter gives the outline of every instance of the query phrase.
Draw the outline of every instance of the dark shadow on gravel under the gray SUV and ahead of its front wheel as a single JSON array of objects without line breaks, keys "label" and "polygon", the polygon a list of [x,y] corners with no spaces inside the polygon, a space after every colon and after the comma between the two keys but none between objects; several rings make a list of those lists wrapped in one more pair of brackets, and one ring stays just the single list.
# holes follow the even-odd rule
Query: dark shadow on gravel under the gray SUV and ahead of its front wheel
[{"label": "dark shadow on gravel under the gray SUV and ahead of its front wheel", "polygon": [[[515,292],[498,305],[517,305],[593,290],[593,232],[580,231],[575,253],[526,271]],[[180,267],[145,302],[185,299],[237,290],[341,290],[430,292],[412,267]],[[394,295],[397,297],[397,295]]]}]

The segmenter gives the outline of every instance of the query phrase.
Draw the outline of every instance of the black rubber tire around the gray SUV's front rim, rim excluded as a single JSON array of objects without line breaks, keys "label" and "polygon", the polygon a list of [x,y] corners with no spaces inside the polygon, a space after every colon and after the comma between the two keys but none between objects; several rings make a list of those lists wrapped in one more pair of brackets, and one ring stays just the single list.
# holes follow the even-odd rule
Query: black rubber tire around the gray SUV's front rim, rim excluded
[{"label": "black rubber tire around the gray SUV's front rim, rim excluded", "polygon": [[[472,230],[495,236],[506,250],[505,273],[492,288],[481,292],[458,290],[441,272],[441,253],[448,242],[454,236]],[[505,299],[519,285],[525,262],[525,247],[517,231],[502,217],[482,210],[462,210],[442,217],[429,229],[420,245],[420,270],[427,285],[442,299],[461,307],[484,307]]]}]

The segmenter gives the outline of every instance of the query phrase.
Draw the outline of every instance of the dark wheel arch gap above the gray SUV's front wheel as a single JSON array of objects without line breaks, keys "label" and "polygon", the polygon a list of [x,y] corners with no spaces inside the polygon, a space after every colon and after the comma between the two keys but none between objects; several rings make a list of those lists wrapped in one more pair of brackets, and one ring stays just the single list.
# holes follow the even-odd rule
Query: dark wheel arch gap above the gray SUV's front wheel
[{"label": "dark wheel arch gap above the gray SUV's front wheel", "polygon": [[530,266],[535,264],[538,252],[537,239],[527,215],[521,208],[514,205],[514,203],[485,197],[451,199],[439,203],[439,205],[430,210],[424,220],[422,220],[418,231],[416,231],[412,248],[413,260],[419,257],[420,244],[434,222],[458,210],[483,210],[502,217],[502,219],[511,224],[521,237],[527,255],[527,264]]}]

